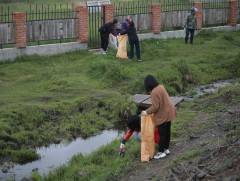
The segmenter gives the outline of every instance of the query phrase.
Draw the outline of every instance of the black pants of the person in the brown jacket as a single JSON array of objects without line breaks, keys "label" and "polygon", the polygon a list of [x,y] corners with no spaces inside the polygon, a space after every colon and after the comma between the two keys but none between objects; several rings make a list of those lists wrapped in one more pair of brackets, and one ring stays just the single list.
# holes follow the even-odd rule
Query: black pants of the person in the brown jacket
[{"label": "black pants of the person in the brown jacket", "polygon": [[158,152],[164,152],[164,150],[169,148],[171,140],[171,122],[165,122],[158,125],[158,134],[160,136]]}]

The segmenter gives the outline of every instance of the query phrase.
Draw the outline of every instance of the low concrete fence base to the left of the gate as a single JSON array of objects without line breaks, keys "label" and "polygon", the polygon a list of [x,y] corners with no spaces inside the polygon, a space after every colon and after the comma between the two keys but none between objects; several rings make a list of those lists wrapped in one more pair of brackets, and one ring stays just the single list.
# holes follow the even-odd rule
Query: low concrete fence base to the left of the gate
[{"label": "low concrete fence base to the left of the gate", "polygon": [[56,55],[77,50],[87,50],[87,43],[62,43],[39,46],[28,46],[26,48],[6,48],[0,50],[0,62],[14,61],[17,57],[23,55]]}]

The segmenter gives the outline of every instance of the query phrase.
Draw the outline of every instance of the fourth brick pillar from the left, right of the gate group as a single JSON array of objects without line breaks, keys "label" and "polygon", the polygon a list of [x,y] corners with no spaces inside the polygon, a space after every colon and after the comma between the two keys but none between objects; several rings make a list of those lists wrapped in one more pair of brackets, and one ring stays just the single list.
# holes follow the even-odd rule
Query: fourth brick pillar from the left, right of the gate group
[{"label": "fourth brick pillar from the left, right of the gate group", "polygon": [[161,32],[161,5],[151,4],[152,12],[152,32],[154,34],[159,34]]}]

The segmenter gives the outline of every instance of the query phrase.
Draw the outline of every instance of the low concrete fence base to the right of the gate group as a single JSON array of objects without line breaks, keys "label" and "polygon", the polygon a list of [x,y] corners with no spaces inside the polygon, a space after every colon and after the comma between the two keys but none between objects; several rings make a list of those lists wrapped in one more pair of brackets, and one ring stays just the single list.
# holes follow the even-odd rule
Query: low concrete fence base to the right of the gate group
[{"label": "low concrete fence base to the right of the gate group", "polygon": [[[202,28],[201,30],[239,31],[240,24],[237,24],[236,26],[217,26],[217,27]],[[197,35],[201,30],[197,30],[195,35]],[[155,38],[155,39],[184,38],[185,30],[163,31],[159,34],[145,33],[145,34],[139,34],[138,37],[140,40],[149,39],[149,38]]]}]

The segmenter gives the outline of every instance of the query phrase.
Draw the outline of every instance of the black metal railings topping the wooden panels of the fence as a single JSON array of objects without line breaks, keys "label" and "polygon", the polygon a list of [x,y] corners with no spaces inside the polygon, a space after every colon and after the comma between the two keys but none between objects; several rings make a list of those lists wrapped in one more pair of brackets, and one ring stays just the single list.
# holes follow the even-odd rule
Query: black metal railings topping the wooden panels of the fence
[{"label": "black metal railings topping the wooden panels of the fence", "polygon": [[[196,0],[195,0],[196,1]],[[227,8],[228,0],[200,0],[203,2],[203,9]],[[240,0],[238,1],[238,6]],[[194,1],[179,0],[138,0],[122,1],[114,3],[115,16],[131,14],[148,14],[149,5],[152,3],[161,4],[161,11],[181,11],[192,7]],[[199,0],[198,0],[199,2]],[[0,23],[13,21],[13,12],[20,11],[27,13],[27,21],[46,19],[67,19],[75,17],[74,3],[72,4],[26,4],[26,3],[2,3],[0,5]]]}]

